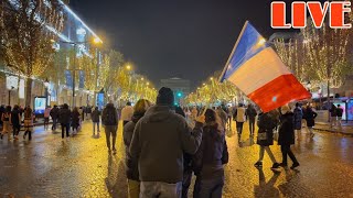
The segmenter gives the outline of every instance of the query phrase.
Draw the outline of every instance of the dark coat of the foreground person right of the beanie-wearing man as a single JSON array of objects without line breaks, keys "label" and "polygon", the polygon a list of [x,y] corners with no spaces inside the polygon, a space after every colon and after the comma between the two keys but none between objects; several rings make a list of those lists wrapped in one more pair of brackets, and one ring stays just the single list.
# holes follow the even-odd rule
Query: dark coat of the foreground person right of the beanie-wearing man
[{"label": "dark coat of the foreground person right of the beanie-wearing man", "polygon": [[202,179],[223,177],[223,164],[228,163],[228,148],[224,131],[217,129],[216,123],[203,128],[201,145],[193,156],[193,170]]}]

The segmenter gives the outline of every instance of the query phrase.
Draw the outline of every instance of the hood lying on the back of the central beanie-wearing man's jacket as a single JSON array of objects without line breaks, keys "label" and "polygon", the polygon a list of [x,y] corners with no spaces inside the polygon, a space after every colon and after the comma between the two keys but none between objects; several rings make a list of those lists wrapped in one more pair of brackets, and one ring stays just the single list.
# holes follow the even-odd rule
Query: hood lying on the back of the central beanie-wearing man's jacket
[{"label": "hood lying on the back of the central beanie-wearing man's jacket", "polygon": [[156,105],[150,107],[145,113],[146,118],[151,122],[160,122],[167,120],[169,117],[174,114],[169,106]]}]

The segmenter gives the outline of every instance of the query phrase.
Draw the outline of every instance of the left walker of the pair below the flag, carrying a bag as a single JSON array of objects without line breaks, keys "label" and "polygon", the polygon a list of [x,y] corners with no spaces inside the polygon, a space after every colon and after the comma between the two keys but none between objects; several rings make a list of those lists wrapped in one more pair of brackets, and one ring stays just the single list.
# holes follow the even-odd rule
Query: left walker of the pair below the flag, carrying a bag
[{"label": "left walker of the pair below the flag, carrying a bag", "polygon": [[277,163],[271,150],[270,145],[274,145],[274,130],[278,123],[276,120],[276,110],[270,112],[260,113],[258,117],[257,125],[258,125],[258,134],[257,134],[257,144],[260,146],[259,158],[257,163],[255,163],[256,167],[263,167],[263,160],[265,151],[267,152],[269,158],[272,161],[271,169],[278,168],[279,164]]}]

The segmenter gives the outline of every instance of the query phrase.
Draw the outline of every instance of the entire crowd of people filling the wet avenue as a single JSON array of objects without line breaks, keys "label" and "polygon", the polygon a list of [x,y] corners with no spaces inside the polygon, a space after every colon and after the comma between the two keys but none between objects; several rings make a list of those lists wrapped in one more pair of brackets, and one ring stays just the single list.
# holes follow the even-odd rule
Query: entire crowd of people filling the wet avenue
[{"label": "entire crowd of people filling the wet avenue", "polygon": [[[341,111],[334,110],[338,120]],[[23,119],[23,139],[32,139],[33,111],[30,107],[23,110],[19,106],[1,107],[1,124],[3,135],[18,140]],[[331,116],[333,112],[331,112]],[[334,114],[333,114],[334,116]],[[69,130],[76,134],[82,121],[90,119],[93,135],[99,136],[101,122],[108,152],[115,154],[119,120],[122,121],[122,136],[126,151],[126,176],[128,193],[131,198],[149,197],[188,197],[191,178],[196,176],[193,197],[222,197],[224,186],[224,165],[228,163],[226,133],[232,133],[232,122],[236,122],[236,132],[240,142],[244,123],[248,121],[249,136],[254,139],[257,121],[257,144],[259,158],[255,163],[263,167],[265,152],[272,162],[272,169],[287,167],[287,157],[292,161],[290,168],[300,164],[290,146],[300,139],[303,123],[313,138],[313,125],[317,113],[311,106],[292,108],[284,106],[270,112],[261,112],[256,106],[237,107],[175,107],[173,91],[170,88],[159,90],[156,105],[140,99],[132,107],[127,102],[121,110],[108,102],[100,112],[93,107],[73,108],[64,103],[61,107],[47,107],[44,111],[44,129],[49,129],[52,118],[52,130],[57,124],[62,130],[62,139],[69,136]],[[342,117],[342,116],[341,116]],[[278,145],[282,153],[279,163],[270,146],[278,131]],[[96,133],[97,132],[97,133]]]}]

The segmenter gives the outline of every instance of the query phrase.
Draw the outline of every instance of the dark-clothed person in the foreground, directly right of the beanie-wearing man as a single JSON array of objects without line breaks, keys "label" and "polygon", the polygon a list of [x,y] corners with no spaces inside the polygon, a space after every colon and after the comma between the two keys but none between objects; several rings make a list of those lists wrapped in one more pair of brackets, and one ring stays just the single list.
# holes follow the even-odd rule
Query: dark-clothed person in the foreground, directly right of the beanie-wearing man
[{"label": "dark-clothed person in the foreground, directly right of the beanie-wearing man", "polygon": [[221,198],[224,186],[223,165],[228,163],[228,150],[225,129],[220,123],[217,113],[207,109],[201,145],[193,156],[196,175],[194,198]]}]

